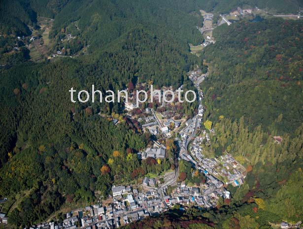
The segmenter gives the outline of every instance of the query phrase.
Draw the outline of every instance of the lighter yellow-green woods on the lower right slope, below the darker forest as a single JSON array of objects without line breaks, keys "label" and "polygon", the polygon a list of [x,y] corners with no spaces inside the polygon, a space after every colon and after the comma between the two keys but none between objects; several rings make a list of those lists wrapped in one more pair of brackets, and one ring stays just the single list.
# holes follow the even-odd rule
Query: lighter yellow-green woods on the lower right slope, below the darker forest
[{"label": "lighter yellow-green woods on the lower right slope, below the darker forest", "polygon": [[[303,126],[295,132],[296,137],[284,135],[281,144],[260,127],[249,132],[243,118],[234,123],[224,118],[214,131],[208,150],[220,156],[225,149],[247,164],[244,184],[240,188],[228,186],[233,198],[220,198],[213,209],[191,207],[183,211],[176,205],[160,217],[124,228],[271,229],[282,220],[297,223],[302,219]],[[190,166],[184,164],[187,162],[180,163],[180,169],[190,172]]]}]

